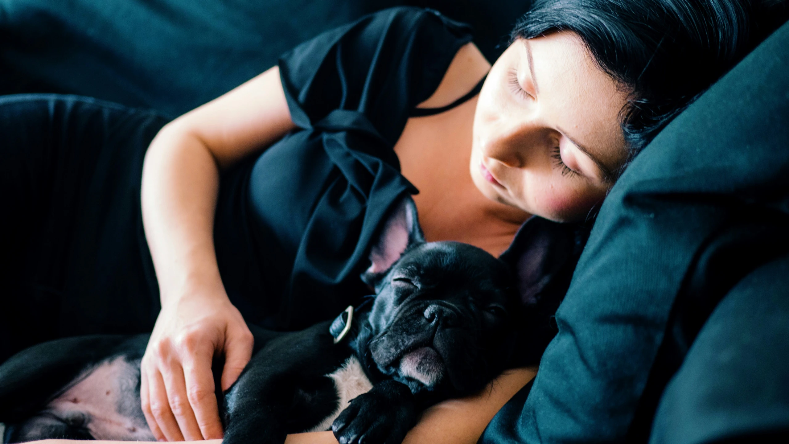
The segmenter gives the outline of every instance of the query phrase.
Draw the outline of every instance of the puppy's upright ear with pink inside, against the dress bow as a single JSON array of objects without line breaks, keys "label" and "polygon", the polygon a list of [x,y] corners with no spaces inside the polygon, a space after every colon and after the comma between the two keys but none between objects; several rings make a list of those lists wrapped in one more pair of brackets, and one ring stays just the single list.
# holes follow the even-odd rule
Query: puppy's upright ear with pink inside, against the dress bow
[{"label": "puppy's upright ear with pink inside, against the dress bow", "polygon": [[405,196],[391,211],[378,240],[372,245],[370,267],[361,275],[362,280],[368,285],[375,285],[407,248],[422,243],[424,235],[419,226],[417,205],[411,196]]}]

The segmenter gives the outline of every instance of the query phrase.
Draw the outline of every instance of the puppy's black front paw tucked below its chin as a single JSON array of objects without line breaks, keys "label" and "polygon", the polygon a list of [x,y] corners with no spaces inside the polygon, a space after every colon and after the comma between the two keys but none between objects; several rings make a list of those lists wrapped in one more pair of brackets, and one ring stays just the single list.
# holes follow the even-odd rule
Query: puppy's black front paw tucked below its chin
[{"label": "puppy's black front paw tucked below its chin", "polygon": [[411,390],[400,382],[383,381],[350,401],[331,431],[339,444],[400,444],[417,415]]}]

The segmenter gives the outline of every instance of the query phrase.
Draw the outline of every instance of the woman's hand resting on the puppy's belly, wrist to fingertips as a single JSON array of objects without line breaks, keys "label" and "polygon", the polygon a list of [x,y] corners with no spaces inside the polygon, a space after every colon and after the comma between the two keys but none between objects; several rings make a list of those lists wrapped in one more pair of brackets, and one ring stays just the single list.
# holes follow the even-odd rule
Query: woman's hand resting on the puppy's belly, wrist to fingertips
[{"label": "woman's hand resting on the puppy's belly, wrist to fingertips", "polygon": [[252,334],[225,294],[168,300],[140,364],[140,401],[159,441],[222,438],[211,360],[225,356],[222,391],[252,357]]}]

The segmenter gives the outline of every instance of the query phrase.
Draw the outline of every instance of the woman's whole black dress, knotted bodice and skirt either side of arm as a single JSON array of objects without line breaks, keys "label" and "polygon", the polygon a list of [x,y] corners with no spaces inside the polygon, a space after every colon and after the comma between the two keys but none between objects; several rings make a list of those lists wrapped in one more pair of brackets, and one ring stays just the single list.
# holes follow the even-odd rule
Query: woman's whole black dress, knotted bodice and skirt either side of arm
[{"label": "woman's whole black dress, knotted bodice and skirt either side of arm", "polygon": [[[396,8],[282,56],[299,129],[222,173],[215,216],[222,282],[248,323],[298,329],[369,293],[358,278],[368,245],[390,207],[417,192],[399,173],[394,144],[471,39],[466,25],[439,13]],[[0,362],[52,338],[151,330],[159,291],[140,176],[165,123],[152,112],[74,96],[0,99]],[[554,250],[567,255],[554,252],[550,265],[519,275],[555,274],[577,256],[574,230],[552,230],[564,240]],[[514,246],[522,244],[529,241],[516,237]],[[518,267],[528,249],[503,257]],[[548,282],[537,281],[540,289]]]}]

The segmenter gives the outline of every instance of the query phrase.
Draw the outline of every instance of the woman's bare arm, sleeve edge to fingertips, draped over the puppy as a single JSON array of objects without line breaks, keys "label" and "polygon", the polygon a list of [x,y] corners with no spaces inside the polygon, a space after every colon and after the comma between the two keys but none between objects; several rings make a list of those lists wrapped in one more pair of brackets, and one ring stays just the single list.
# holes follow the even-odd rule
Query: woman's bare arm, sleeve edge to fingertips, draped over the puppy
[{"label": "woman's bare arm, sleeve edge to fingertips, draped over the puppy", "polygon": [[277,67],[166,125],[142,177],[145,236],[162,311],[142,364],[140,397],[156,438],[221,438],[211,360],[222,390],[252,355],[252,334],[228,299],[213,242],[219,169],[294,129]]}]

